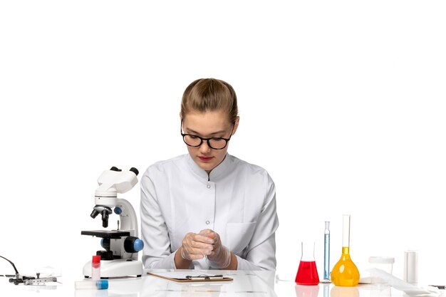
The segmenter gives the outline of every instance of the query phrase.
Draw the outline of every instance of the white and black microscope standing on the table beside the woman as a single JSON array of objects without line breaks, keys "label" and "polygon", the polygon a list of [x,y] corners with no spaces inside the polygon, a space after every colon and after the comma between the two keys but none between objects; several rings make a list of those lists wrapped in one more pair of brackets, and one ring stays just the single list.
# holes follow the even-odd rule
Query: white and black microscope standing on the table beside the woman
[{"label": "white and black microscope standing on the table beside the woman", "polygon": [[[103,250],[96,251],[100,256],[101,278],[122,278],[142,276],[142,262],[138,261],[138,251],[144,243],[138,238],[138,220],[132,204],[118,199],[118,193],[128,192],[138,183],[138,170],[134,167],[122,171],[117,167],[105,170],[98,177],[99,187],[95,192],[95,207],[90,217],[102,218],[102,226],[108,227],[110,214],[118,214],[118,229],[81,231],[82,235],[101,237]],[[113,209],[113,212],[112,212]],[[91,277],[91,261],[83,266],[85,278]]]}]

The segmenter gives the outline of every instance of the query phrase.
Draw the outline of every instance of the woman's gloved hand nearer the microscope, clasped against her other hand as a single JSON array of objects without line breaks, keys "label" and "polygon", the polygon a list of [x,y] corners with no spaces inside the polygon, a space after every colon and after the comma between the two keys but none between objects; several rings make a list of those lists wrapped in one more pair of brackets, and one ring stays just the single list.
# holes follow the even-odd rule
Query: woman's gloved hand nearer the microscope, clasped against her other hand
[{"label": "woman's gloved hand nearer the microscope, clasped against her other hand", "polygon": [[202,234],[187,233],[182,240],[181,256],[185,260],[203,259],[212,253],[214,239]]}]

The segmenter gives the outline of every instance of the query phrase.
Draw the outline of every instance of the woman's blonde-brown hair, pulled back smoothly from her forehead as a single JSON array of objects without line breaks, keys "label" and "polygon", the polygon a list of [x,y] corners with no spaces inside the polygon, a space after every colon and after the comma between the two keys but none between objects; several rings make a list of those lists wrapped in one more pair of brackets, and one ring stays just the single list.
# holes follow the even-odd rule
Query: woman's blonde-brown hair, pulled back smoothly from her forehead
[{"label": "woman's blonde-brown hair, pulled back smoothly from her forehead", "polygon": [[239,109],[237,95],[229,83],[215,78],[200,78],[187,86],[181,100],[181,118],[190,111],[227,112],[229,122],[235,123]]}]

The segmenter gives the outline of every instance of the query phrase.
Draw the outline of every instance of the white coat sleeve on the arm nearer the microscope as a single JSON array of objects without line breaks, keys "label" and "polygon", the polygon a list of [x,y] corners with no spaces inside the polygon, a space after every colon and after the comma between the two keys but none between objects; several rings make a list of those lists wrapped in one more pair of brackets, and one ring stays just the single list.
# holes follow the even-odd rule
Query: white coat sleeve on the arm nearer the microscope
[{"label": "white coat sleeve on the arm nearer the microscope", "polygon": [[142,176],[140,184],[141,238],[144,242],[142,264],[145,269],[175,269],[175,251],[170,251],[169,233],[157,202],[150,168]]}]

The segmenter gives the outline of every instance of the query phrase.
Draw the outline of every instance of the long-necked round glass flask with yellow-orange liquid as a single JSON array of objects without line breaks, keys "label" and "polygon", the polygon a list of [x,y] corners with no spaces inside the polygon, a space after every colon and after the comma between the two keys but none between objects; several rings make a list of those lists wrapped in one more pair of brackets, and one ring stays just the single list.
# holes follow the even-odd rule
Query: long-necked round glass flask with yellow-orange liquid
[{"label": "long-necked round glass flask with yellow-orange liquid", "polygon": [[331,282],[335,286],[356,286],[359,282],[358,268],[350,258],[350,214],[343,215],[342,254],[331,271]]}]

